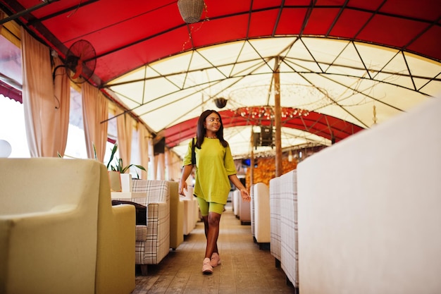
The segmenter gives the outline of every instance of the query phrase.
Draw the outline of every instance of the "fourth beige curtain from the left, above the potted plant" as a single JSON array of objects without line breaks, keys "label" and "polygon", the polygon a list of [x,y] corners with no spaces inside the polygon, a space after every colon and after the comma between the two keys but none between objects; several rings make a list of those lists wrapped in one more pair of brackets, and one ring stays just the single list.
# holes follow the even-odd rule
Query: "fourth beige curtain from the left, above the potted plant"
[{"label": "fourth beige curtain from the left, above the potted plant", "polygon": [[[132,132],[133,118],[122,109],[116,111],[116,130],[118,131],[118,151],[120,159],[123,159],[124,166],[130,164],[132,154]],[[127,171],[130,173],[130,171]]]}]

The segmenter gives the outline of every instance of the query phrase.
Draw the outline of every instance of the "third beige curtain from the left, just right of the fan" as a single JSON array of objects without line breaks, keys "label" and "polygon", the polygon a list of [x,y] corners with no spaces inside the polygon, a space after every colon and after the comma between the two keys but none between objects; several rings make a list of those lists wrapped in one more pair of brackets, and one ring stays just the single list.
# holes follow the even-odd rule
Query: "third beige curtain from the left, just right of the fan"
[{"label": "third beige curtain from the left, just right of the fan", "polygon": [[[94,147],[97,160],[104,162],[107,142],[108,100],[97,87],[82,84],[82,116],[85,126],[87,157],[94,159]],[[104,123],[101,123],[106,121]]]}]

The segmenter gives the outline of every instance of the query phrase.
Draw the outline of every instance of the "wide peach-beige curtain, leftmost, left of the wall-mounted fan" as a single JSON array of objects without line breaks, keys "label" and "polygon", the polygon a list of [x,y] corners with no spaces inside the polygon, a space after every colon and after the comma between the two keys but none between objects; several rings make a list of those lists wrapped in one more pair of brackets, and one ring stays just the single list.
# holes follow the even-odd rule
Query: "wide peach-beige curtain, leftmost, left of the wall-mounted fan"
[{"label": "wide peach-beige curtain, leftmost, left of the wall-mounted fan", "polygon": [[57,107],[49,47],[21,27],[23,108],[27,146],[31,157],[56,157]]}]

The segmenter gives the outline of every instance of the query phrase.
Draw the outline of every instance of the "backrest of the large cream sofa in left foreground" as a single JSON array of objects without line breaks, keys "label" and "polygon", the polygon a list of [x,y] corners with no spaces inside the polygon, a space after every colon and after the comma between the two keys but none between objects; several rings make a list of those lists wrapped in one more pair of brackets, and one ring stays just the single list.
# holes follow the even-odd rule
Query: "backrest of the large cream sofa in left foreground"
[{"label": "backrest of the large cream sofa in left foreground", "polygon": [[75,207],[97,210],[99,162],[92,159],[0,159],[0,214],[26,214]]}]

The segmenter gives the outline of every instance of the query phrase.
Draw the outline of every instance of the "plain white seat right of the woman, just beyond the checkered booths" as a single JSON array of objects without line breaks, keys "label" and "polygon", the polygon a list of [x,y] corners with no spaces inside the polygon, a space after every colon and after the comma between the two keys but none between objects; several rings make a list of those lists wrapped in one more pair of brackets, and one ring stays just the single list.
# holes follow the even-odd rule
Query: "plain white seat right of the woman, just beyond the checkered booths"
[{"label": "plain white seat right of the woman, just beyond the checkered booths", "polygon": [[270,192],[264,183],[252,185],[251,191],[251,203],[254,203],[254,217],[251,210],[251,219],[254,219],[254,237],[259,247],[263,249],[266,243],[271,242]]}]

